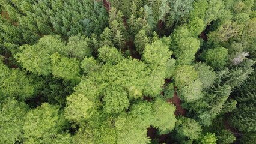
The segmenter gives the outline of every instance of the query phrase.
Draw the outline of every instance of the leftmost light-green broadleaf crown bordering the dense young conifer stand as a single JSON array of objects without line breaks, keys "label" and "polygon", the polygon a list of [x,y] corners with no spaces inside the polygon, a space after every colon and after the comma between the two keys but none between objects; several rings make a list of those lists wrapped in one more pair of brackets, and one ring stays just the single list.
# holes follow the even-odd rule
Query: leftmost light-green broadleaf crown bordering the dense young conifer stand
[{"label": "leftmost light-green broadleaf crown bordering the dense young conifer stand", "polygon": [[52,73],[50,55],[55,52],[62,53],[64,43],[59,36],[46,36],[38,40],[38,43],[30,46],[25,44],[19,47],[22,52],[14,55],[14,58],[26,70],[43,76]]}]

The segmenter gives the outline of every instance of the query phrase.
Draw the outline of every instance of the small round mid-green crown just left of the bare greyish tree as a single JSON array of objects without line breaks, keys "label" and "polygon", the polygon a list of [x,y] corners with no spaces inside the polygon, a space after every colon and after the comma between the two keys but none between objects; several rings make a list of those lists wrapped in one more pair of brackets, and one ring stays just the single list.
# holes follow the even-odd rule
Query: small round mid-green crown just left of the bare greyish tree
[{"label": "small round mid-green crown just left of the bare greyish tree", "polygon": [[227,64],[228,50],[224,47],[216,47],[206,52],[205,58],[206,63],[214,68],[222,68]]}]

